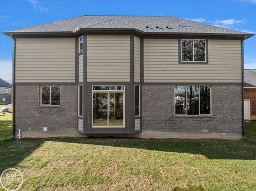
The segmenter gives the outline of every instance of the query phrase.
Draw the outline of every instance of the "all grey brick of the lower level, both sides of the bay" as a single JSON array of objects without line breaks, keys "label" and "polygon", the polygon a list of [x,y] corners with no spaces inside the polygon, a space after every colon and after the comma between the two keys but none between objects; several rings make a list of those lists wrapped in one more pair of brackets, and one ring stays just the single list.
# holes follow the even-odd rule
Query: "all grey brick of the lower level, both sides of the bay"
[{"label": "all grey brick of the lower level, both sides of the bay", "polygon": [[[15,87],[16,135],[22,137],[78,137],[77,86],[62,85],[61,105],[40,106],[38,85]],[[142,85],[142,132],[94,135],[142,138],[242,138],[242,87],[212,86],[212,115],[174,115],[174,86]],[[47,131],[43,131],[47,127]]]}]

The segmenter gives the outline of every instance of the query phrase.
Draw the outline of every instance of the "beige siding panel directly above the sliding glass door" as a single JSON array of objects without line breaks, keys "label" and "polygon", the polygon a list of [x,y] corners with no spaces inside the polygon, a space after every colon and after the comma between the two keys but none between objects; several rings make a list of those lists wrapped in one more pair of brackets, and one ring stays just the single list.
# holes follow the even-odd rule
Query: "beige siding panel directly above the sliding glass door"
[{"label": "beige siding panel directly above the sliding glass door", "polygon": [[130,36],[87,36],[87,81],[130,81]]}]

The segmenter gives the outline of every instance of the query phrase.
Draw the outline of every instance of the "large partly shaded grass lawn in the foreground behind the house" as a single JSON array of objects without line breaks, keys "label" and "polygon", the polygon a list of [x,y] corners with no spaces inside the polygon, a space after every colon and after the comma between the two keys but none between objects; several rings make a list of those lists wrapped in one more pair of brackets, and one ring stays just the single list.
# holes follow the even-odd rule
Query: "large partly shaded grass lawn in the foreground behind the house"
[{"label": "large partly shaded grass lawn in the foreground behind the house", "polygon": [[19,169],[20,190],[256,190],[256,121],[245,126],[244,140],[0,139],[0,173]]}]

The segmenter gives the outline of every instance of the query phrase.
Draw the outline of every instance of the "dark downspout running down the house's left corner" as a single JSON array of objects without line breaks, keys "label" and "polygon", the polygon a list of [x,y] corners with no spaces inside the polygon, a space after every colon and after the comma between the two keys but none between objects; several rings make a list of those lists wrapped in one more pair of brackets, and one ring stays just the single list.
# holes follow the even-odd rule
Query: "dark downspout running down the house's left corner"
[{"label": "dark downspout running down the house's left corner", "polygon": [[12,111],[12,138],[15,138],[15,50],[16,50],[16,40],[11,34],[13,39],[13,51],[12,51],[12,84],[13,84],[13,111]]}]

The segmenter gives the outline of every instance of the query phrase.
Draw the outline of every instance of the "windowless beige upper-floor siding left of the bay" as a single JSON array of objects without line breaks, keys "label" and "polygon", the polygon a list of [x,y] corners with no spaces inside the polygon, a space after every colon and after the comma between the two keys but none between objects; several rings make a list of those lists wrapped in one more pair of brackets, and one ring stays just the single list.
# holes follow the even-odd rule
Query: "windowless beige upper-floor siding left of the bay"
[{"label": "windowless beige upper-floor siding left of the bay", "polygon": [[75,82],[75,38],[17,38],[16,82]]}]

